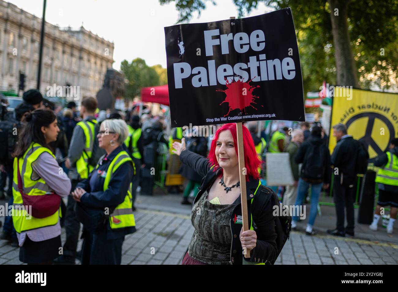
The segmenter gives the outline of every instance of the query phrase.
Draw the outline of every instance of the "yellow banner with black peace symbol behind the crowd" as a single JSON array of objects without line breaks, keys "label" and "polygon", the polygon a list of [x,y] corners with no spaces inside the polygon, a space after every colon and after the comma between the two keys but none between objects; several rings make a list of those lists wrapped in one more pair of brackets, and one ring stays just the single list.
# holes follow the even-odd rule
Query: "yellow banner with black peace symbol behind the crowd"
[{"label": "yellow banner with black peace symbol behind the crowd", "polygon": [[[349,135],[367,146],[370,159],[375,158],[388,148],[393,138],[398,137],[398,94],[336,89],[331,126],[338,123],[343,123]],[[335,146],[336,138],[331,128],[330,153]]]}]

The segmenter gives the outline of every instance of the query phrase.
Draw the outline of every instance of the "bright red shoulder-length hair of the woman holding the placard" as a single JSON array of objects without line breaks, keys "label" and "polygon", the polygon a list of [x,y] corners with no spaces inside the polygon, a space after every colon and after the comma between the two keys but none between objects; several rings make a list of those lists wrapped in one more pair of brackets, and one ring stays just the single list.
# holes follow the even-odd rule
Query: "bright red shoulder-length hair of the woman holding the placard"
[{"label": "bright red shoulder-length hair of the woman holding the placard", "polygon": [[[236,123],[224,124],[221,128],[219,128],[214,136],[213,141],[211,142],[209,155],[207,158],[210,161],[211,165],[214,165],[213,171],[219,169],[220,165],[217,162],[216,157],[216,144],[217,140],[222,131],[229,130],[232,134],[232,138],[234,138],[234,146],[236,155],[238,155],[238,138],[236,135]],[[261,165],[261,160],[258,158],[258,154],[256,152],[256,148],[254,148],[253,138],[250,135],[248,128],[242,125],[243,132],[243,149],[244,149],[244,157],[245,157],[245,167],[246,167],[246,181],[249,181],[249,176],[254,179],[259,179],[258,167]],[[221,174],[222,175],[222,169]]]}]

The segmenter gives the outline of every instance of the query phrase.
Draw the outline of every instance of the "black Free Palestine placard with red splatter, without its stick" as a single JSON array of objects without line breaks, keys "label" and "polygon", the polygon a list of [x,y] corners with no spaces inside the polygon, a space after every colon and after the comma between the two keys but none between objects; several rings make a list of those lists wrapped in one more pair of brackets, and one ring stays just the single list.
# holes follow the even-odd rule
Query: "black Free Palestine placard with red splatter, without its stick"
[{"label": "black Free Palestine placard with red splatter, without its stick", "polygon": [[172,127],[304,121],[290,8],[164,31]]}]

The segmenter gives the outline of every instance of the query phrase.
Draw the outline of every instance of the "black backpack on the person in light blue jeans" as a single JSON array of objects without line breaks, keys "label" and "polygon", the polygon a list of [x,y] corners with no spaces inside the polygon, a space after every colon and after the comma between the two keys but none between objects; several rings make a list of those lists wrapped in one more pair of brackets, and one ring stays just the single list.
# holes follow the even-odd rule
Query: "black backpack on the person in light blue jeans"
[{"label": "black backpack on the person in light blue jeans", "polygon": [[306,179],[319,180],[324,176],[324,148],[323,144],[309,143],[304,162],[301,167],[301,176]]}]

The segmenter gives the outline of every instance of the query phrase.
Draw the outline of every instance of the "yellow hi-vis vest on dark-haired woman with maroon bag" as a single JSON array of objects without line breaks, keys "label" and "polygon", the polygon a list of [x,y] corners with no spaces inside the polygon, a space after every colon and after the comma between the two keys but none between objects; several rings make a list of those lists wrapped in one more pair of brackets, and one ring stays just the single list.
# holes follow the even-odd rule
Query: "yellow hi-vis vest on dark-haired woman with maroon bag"
[{"label": "yellow hi-vis vest on dark-haired woman with maroon bag", "polygon": [[31,178],[33,173],[32,163],[35,162],[37,158],[39,158],[39,156],[44,152],[48,152],[55,159],[54,154],[51,153],[48,148],[45,148],[35,142],[32,142],[32,144],[29,146],[29,148],[27,148],[25,154],[23,154],[21,158],[14,158],[14,178],[12,183],[12,195],[14,197],[14,214],[12,215],[12,222],[14,224],[16,232],[18,233],[45,226],[55,225],[59,220],[60,210],[57,210],[57,212],[55,212],[53,215],[45,218],[35,218],[31,216],[31,214],[29,216],[26,210],[20,212],[21,206],[23,206],[23,201],[21,193],[18,189],[18,164],[20,166],[23,192],[26,195],[43,196],[47,193],[52,192],[50,187],[41,177],[39,177],[37,180],[33,180]]}]

